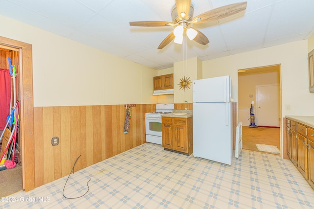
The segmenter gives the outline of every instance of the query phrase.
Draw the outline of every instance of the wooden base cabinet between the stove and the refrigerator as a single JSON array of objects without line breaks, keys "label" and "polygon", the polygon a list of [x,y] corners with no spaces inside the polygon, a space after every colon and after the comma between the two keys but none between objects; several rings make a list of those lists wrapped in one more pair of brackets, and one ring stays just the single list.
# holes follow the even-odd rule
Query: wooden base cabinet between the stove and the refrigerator
[{"label": "wooden base cabinet between the stove and the refrigerator", "polygon": [[191,155],[193,152],[192,117],[162,117],[162,146],[165,149]]}]

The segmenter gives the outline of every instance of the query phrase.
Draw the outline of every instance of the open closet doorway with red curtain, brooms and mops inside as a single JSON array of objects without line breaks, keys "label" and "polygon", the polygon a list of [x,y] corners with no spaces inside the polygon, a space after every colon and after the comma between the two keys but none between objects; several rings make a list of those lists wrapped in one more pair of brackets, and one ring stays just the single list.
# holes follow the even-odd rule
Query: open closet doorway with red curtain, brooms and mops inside
[{"label": "open closet doorway with red curtain, brooms and mops inside", "polygon": [[[9,61],[10,58],[10,61]],[[14,66],[14,68],[10,69],[10,66]],[[21,149],[20,149],[20,135],[19,135],[19,129],[13,128],[15,127],[14,124],[9,124],[5,126],[5,123],[7,121],[7,116],[10,112],[13,110],[18,110],[18,107],[16,107],[17,101],[20,101],[20,92],[19,92],[19,84],[20,84],[20,56],[19,56],[19,49],[8,47],[8,46],[1,46],[0,45],[0,68],[2,71],[6,71],[6,74],[1,74],[3,81],[5,78],[8,79],[2,83],[1,88],[2,91],[5,91],[3,95],[1,95],[2,99],[2,105],[1,105],[1,127],[0,130],[5,130],[3,133],[3,136],[7,135],[5,133],[11,133],[14,132],[14,129],[17,130],[17,137],[15,140],[12,139],[10,146],[8,146],[8,151],[5,152],[3,157],[6,160],[13,161],[16,163],[15,167],[13,168],[7,168],[5,170],[0,171],[0,196],[4,197],[10,194],[13,194],[17,191],[22,190],[22,164],[21,164]],[[6,95],[6,96],[4,96]],[[5,105],[3,105],[5,103]],[[16,107],[16,109],[15,109]],[[18,111],[20,112],[20,111]],[[20,115],[20,114],[19,114]],[[12,120],[13,121],[13,120]],[[11,122],[12,122],[11,121]],[[16,121],[16,127],[19,127],[19,121],[15,119]],[[2,132],[2,131],[1,131]],[[12,136],[12,135],[11,135]],[[5,145],[6,140],[4,137],[2,137],[2,140],[0,142],[2,151],[5,151]],[[14,154],[13,154],[14,152]],[[2,157],[2,155],[1,155]]]}]

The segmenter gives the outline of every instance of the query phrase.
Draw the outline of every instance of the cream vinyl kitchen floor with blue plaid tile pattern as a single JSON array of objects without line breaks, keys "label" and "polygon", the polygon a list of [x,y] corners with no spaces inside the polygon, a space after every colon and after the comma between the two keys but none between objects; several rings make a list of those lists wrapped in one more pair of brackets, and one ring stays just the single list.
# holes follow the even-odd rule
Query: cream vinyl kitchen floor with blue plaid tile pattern
[{"label": "cream vinyl kitchen floor with blue plaid tile pattern", "polygon": [[[243,150],[232,165],[145,143],[29,192],[4,209],[312,209],[314,190],[278,155]],[[90,182],[88,183],[88,181]],[[89,189],[88,189],[88,186]]]}]

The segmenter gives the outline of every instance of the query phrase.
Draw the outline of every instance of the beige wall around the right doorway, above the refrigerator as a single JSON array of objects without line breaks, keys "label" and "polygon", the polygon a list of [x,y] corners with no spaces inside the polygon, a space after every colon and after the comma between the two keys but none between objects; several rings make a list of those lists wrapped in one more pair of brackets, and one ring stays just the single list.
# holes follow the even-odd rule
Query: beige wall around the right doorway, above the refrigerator
[{"label": "beige wall around the right doorway, above the refrigerator", "polygon": [[237,70],[281,64],[282,116],[314,116],[314,93],[309,93],[307,40],[203,62],[203,78],[231,75],[232,97],[238,101]]}]

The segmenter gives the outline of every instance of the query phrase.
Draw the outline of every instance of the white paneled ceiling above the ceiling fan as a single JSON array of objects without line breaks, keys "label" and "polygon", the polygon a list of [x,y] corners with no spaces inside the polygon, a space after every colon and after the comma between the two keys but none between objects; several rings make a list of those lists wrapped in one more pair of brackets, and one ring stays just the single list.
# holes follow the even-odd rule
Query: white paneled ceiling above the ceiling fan
[{"label": "white paneled ceiling above the ceiling fan", "polygon": [[[192,0],[194,17],[242,1]],[[304,40],[314,32],[314,0],[247,0],[245,13],[232,20],[193,25],[208,37],[207,46],[187,40],[187,47],[171,42],[157,49],[173,27],[129,25],[172,22],[174,4],[175,0],[0,0],[0,15],[157,70],[186,58],[204,61]]]}]

